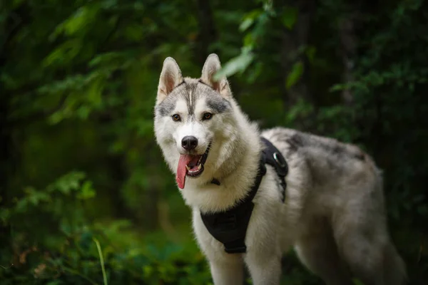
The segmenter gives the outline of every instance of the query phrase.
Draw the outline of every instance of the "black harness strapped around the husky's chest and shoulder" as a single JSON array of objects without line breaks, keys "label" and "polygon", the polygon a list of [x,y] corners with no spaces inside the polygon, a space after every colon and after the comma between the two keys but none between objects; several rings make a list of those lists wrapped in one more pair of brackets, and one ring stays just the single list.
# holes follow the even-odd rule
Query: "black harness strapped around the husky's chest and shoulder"
[{"label": "black harness strapped around the husky's chest and shoulder", "polygon": [[[287,187],[285,176],[288,172],[287,162],[282,157],[281,152],[269,140],[265,138],[261,138],[261,140],[265,144],[265,149],[260,157],[258,174],[255,177],[254,185],[251,187],[248,195],[225,212],[200,213],[200,217],[202,217],[202,221],[208,232],[224,244],[225,252],[228,254],[244,253],[247,250],[245,246],[245,234],[250,222],[251,213],[253,212],[253,199],[260,186],[260,182],[262,182],[263,176],[266,174],[266,164],[275,167],[282,187],[282,202],[285,200],[285,189]],[[213,180],[211,183],[220,185],[218,180]]]}]

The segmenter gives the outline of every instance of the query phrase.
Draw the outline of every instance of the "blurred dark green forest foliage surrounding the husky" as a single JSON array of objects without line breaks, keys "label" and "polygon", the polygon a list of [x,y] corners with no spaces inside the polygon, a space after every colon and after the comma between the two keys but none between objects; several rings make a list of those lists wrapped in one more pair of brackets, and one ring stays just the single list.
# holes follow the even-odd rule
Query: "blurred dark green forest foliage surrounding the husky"
[{"label": "blurred dark green forest foliage surrounding the husky", "polygon": [[[1,284],[210,284],[153,105],[166,56],[198,77],[212,52],[262,128],[374,156],[426,284],[427,20],[423,0],[1,1]],[[282,283],[322,284],[293,252]]]}]

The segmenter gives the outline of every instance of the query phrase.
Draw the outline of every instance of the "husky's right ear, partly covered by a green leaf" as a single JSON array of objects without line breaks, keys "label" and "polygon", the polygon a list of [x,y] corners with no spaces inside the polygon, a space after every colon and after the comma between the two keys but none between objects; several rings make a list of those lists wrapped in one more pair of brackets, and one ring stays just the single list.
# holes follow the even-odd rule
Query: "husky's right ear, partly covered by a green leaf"
[{"label": "husky's right ear, partly covered by a green leaf", "polygon": [[219,71],[220,68],[220,59],[218,59],[218,56],[215,53],[211,53],[205,61],[205,64],[203,65],[202,76],[200,76],[200,79],[203,81],[203,83],[211,86],[223,97],[232,97],[228,79],[226,79],[225,77],[220,78],[218,80],[214,79],[215,73]]}]

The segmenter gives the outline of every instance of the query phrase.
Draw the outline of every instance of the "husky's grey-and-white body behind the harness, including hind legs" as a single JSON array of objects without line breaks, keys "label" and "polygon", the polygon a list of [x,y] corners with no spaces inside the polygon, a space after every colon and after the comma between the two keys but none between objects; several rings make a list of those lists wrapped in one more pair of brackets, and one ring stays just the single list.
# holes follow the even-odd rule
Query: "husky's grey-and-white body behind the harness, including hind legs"
[{"label": "husky's grey-and-white body behind the harness, including hind legs", "polygon": [[262,135],[290,167],[287,214],[299,217],[291,222],[302,262],[327,284],[350,284],[351,274],[365,284],[402,284],[404,262],[389,241],[382,175],[370,155],[297,130]]}]

